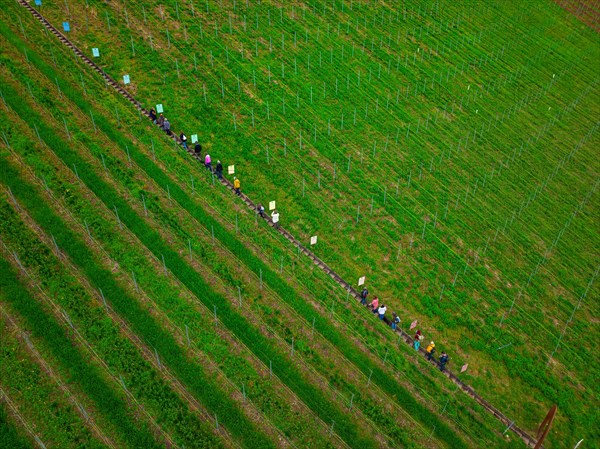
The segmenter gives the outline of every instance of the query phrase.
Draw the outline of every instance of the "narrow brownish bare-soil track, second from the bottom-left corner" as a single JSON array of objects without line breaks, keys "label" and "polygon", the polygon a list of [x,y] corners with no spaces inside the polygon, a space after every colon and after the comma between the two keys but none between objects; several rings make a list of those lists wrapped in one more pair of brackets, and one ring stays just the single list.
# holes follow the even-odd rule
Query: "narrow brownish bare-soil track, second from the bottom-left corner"
[{"label": "narrow brownish bare-soil track, second from the bottom-left corner", "polygon": [[[16,267],[15,267],[16,268]],[[32,363],[35,363],[40,370],[46,374],[50,381],[58,387],[62,395],[73,405],[73,410],[78,414],[84,423],[84,426],[90,430],[91,434],[105,446],[115,448],[115,443],[108,438],[108,436],[98,427],[98,423],[94,419],[93,413],[87,413],[85,411],[81,399],[77,398],[64,381],[61,379],[60,374],[56,373],[49,363],[40,354],[38,349],[33,345],[31,340],[27,337],[27,334],[19,327],[19,324],[0,306],[0,313],[3,315],[4,322],[8,323],[9,329],[11,329],[18,339],[26,343],[27,349],[23,348],[24,352],[27,352],[31,357]]]}]

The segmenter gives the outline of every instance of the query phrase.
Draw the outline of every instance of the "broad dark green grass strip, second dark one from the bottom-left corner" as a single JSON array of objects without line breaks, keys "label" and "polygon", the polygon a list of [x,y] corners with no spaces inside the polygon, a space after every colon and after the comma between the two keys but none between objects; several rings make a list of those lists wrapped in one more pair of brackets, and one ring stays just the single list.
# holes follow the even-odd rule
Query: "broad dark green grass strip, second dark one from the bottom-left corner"
[{"label": "broad dark green grass strip, second dark one from the bottom-left corner", "polygon": [[145,426],[133,422],[127,415],[127,404],[111,390],[98,373],[79,352],[73,348],[63,328],[41,308],[19,280],[15,270],[0,259],[0,291],[2,302],[9,304],[27,323],[32,334],[44,340],[52,354],[78,379],[84,392],[97,404],[98,409],[120,429],[122,439],[130,447],[160,448],[160,444]]}]

